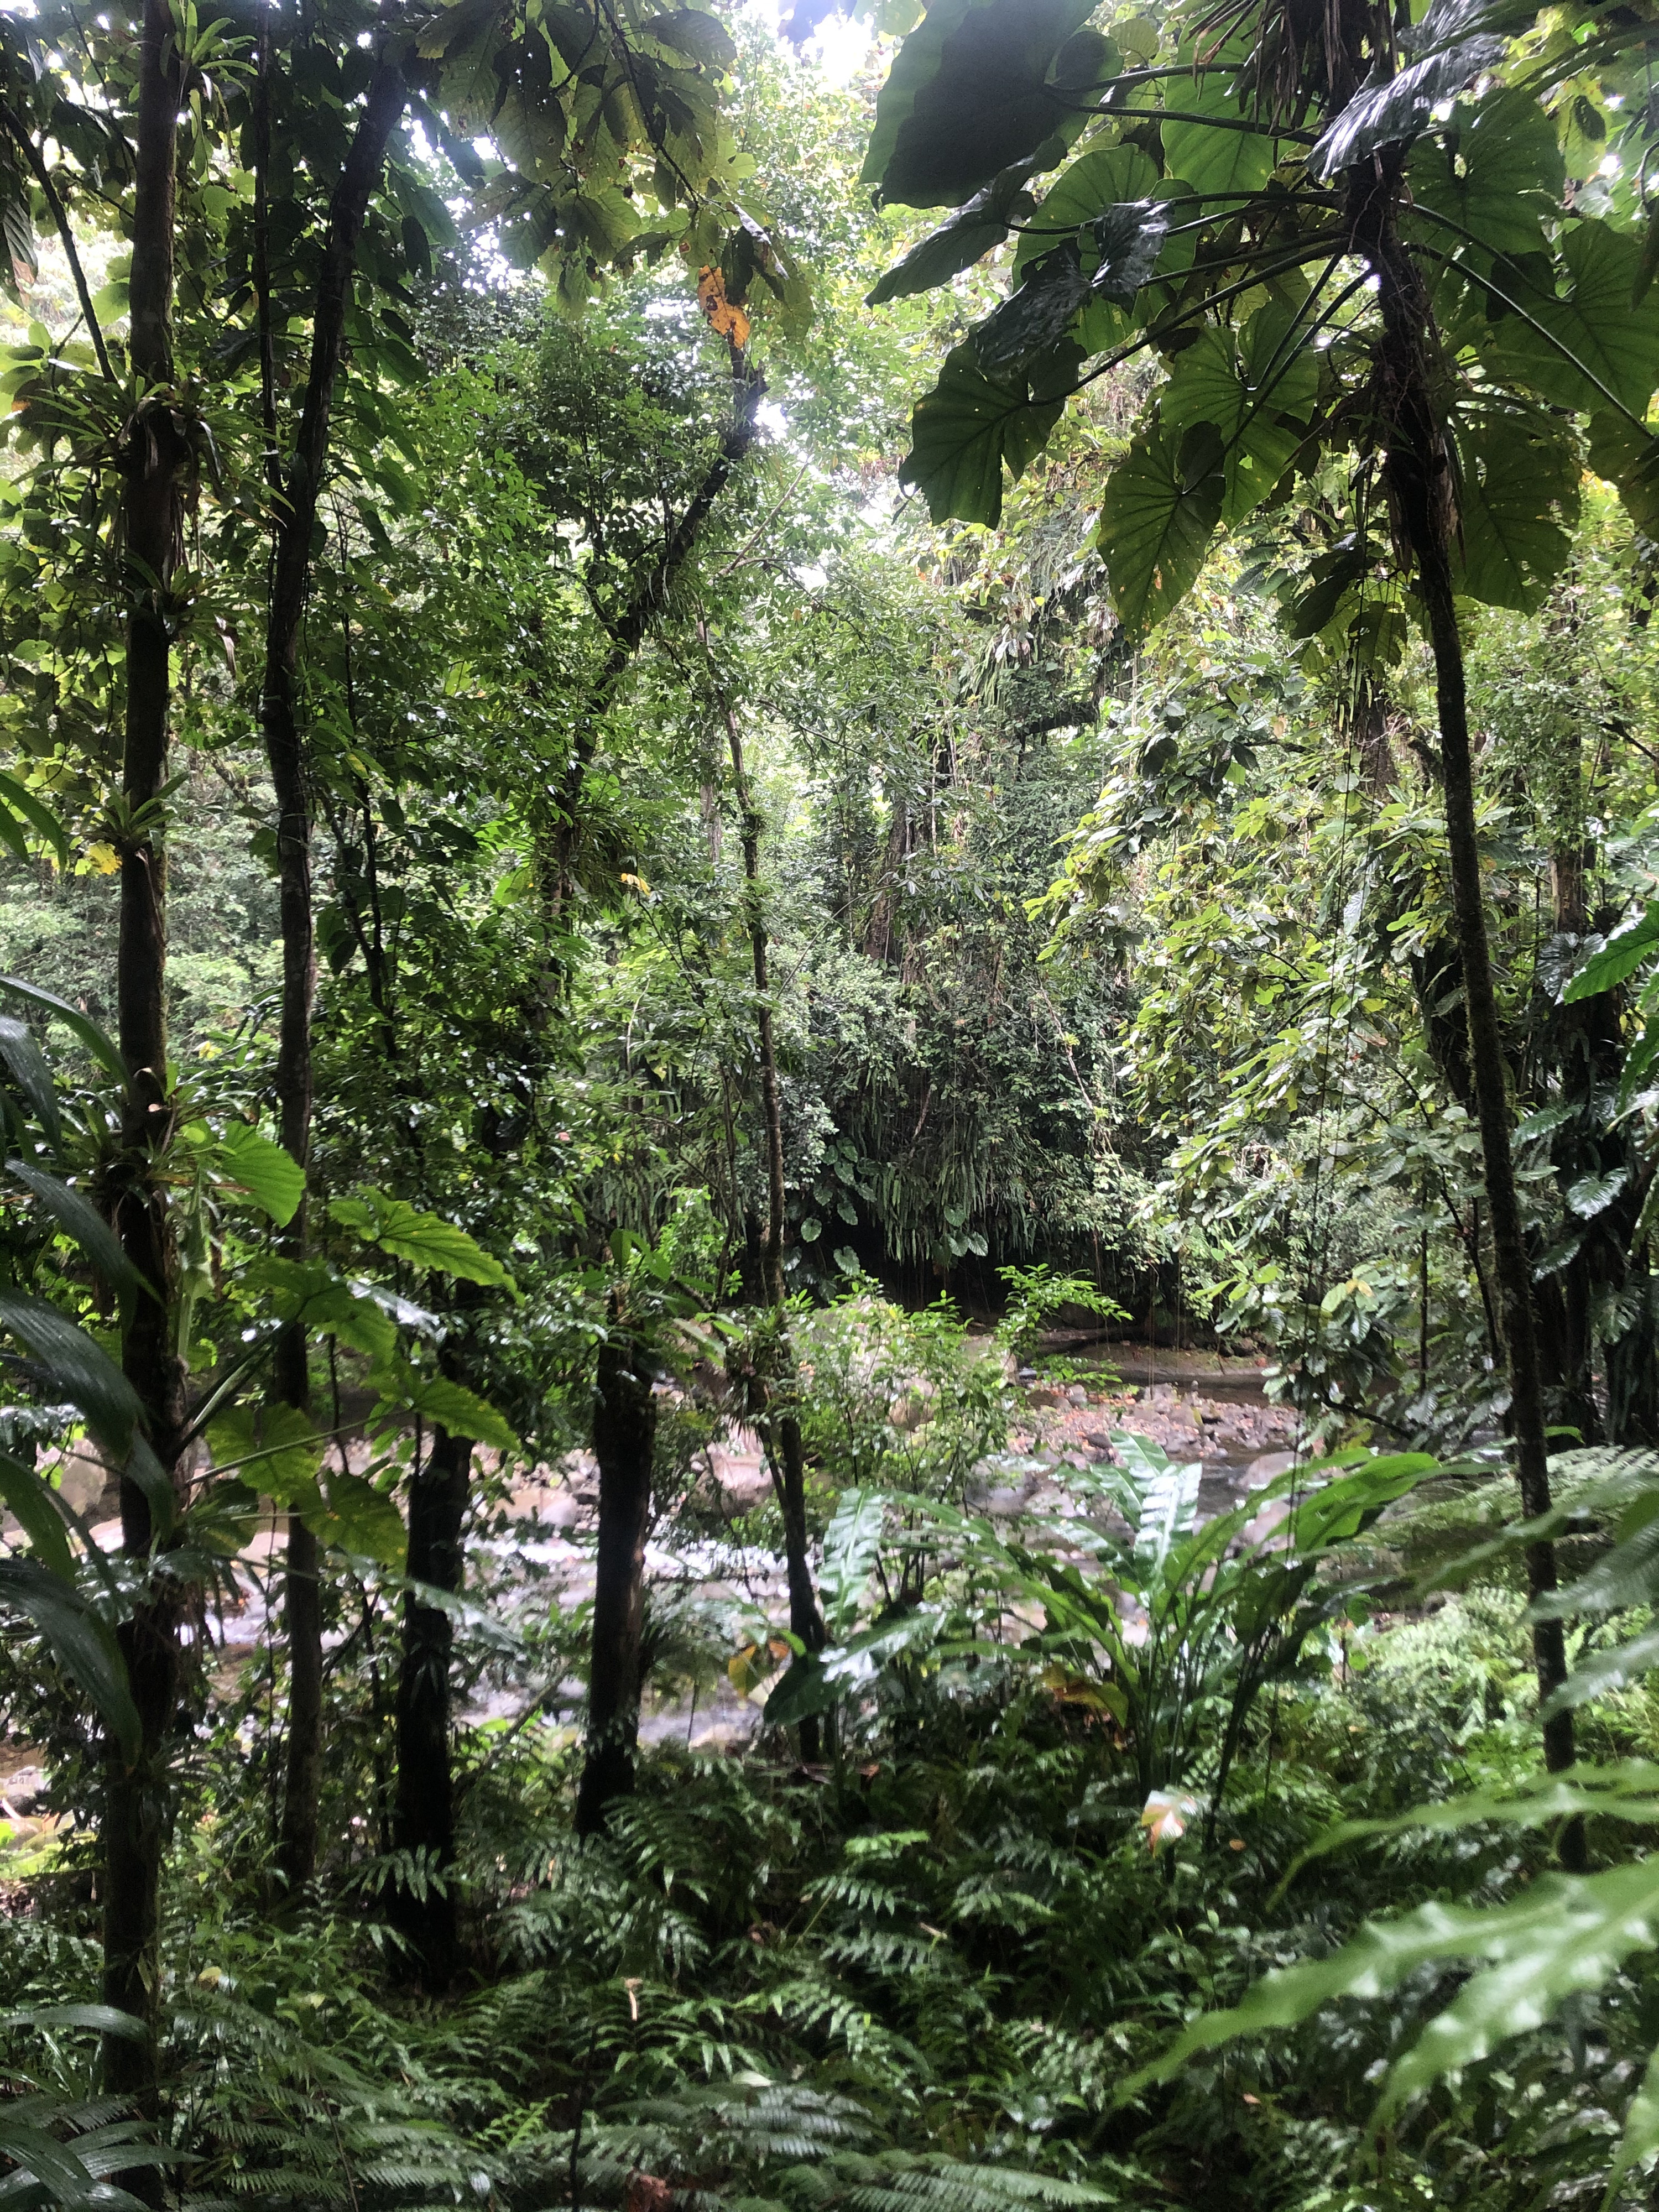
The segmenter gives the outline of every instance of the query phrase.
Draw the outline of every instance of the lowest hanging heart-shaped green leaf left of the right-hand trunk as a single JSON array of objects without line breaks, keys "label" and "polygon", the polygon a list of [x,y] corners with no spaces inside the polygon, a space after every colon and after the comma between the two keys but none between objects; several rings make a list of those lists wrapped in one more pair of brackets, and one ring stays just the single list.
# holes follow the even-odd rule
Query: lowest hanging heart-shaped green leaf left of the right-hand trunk
[{"label": "lowest hanging heart-shaped green leaf left of the right-hand trunk", "polygon": [[1225,500],[1221,434],[1152,422],[1106,478],[1099,549],[1117,619],[1130,637],[1159,624],[1192,588]]}]

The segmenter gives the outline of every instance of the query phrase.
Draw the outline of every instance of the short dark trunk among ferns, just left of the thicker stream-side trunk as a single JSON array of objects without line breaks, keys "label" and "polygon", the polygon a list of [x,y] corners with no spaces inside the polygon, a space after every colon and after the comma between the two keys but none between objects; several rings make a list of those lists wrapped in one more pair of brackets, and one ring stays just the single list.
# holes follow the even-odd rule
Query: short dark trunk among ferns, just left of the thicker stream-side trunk
[{"label": "short dark trunk among ferns, just left of the thicker stream-side trunk", "polygon": [[[460,1524],[473,1447],[447,1429],[431,1431],[431,1451],[409,1484],[411,1582],[460,1595],[465,1555]],[[449,1648],[453,1630],[440,1606],[416,1590],[403,1599],[403,1666],[398,1670],[398,1790],[392,1845],[416,1867],[392,1891],[396,1927],[409,1938],[420,1980],[431,1991],[456,1973],[456,1790],[449,1759]]]}]

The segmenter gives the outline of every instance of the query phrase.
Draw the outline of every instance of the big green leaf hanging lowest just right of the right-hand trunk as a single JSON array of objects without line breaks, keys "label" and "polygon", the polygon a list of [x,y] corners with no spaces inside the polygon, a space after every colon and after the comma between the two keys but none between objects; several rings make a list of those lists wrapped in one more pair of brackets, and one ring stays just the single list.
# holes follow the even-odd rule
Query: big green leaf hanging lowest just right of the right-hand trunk
[{"label": "big green leaf hanging lowest just right of the right-hand trunk", "polygon": [[1458,588],[1522,615],[1573,551],[1579,458],[1546,416],[1480,414],[1458,425]]}]

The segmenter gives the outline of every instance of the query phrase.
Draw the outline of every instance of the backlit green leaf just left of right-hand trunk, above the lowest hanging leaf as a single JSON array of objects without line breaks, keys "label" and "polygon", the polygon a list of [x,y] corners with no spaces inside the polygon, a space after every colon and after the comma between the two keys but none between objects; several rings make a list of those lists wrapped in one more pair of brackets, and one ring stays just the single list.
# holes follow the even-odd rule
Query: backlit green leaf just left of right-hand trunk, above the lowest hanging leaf
[{"label": "backlit green leaf just left of right-hand trunk, above the lowest hanging leaf", "polygon": [[1159,414],[1175,429],[1212,422],[1221,434],[1223,522],[1239,522],[1265,500],[1303,442],[1318,392],[1310,338],[1290,307],[1267,301],[1241,334],[1212,327],[1177,354]]}]

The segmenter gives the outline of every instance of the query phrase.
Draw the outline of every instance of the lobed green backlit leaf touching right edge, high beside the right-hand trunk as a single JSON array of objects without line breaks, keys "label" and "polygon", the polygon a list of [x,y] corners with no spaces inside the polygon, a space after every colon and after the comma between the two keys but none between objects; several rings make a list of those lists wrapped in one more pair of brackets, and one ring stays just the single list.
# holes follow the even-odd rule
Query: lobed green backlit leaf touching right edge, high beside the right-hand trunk
[{"label": "lobed green backlit leaf touching right edge, high beside the right-hand trunk", "polygon": [[1659,385],[1659,292],[1630,303],[1639,263],[1635,239],[1608,223],[1582,221],[1562,237],[1557,290],[1504,268],[1493,283],[1524,314],[1489,325],[1491,374],[1524,383],[1557,407],[1593,411],[1613,396],[1641,416]]}]

